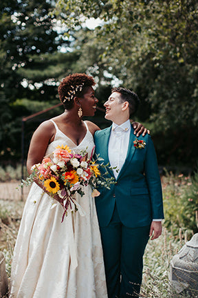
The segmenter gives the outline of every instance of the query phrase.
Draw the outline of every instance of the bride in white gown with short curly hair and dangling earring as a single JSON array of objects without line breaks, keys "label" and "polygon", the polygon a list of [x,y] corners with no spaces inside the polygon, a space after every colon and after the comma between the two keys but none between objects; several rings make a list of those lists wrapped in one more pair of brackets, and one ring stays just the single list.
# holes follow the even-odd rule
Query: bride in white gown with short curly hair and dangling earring
[{"label": "bride in white gown with short curly hair and dangling earring", "polygon": [[[27,160],[29,174],[58,145],[67,145],[77,154],[86,149],[90,157],[94,132],[100,128],[82,117],[94,116],[96,111],[94,85],[87,74],[63,79],[58,94],[65,112],[41,123],[34,132]],[[32,184],[14,248],[10,298],[107,298],[95,203],[91,187],[83,191],[85,195],[76,193],[75,199],[85,215],[70,212],[61,223],[61,203],[52,208],[43,185]]]}]

